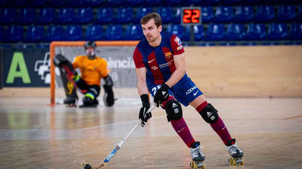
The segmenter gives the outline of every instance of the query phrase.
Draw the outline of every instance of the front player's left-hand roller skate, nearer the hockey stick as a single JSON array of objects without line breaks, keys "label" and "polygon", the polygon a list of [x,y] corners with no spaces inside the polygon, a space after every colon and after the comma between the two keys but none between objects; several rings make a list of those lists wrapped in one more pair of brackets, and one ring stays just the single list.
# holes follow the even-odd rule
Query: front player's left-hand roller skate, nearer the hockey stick
[{"label": "front player's left-hand roller skate, nearer the hockey stick", "polygon": [[204,161],[204,158],[205,158],[204,155],[201,152],[202,148],[203,147],[200,146],[199,141],[194,142],[194,143],[191,144],[190,154],[191,154],[191,157],[192,157],[193,161],[190,162],[190,168],[205,169],[206,164],[204,162],[202,162],[202,161]]}]

